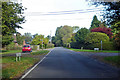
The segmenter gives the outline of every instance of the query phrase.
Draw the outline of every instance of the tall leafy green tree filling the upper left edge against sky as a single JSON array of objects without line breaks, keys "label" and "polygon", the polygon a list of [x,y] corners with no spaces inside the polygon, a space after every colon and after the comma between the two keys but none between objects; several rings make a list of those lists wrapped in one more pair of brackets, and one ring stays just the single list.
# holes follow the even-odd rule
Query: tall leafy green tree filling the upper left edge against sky
[{"label": "tall leafy green tree filling the upper left edge against sky", "polygon": [[22,28],[19,24],[25,22],[22,15],[24,10],[22,4],[2,2],[2,47],[13,41],[12,35],[16,33],[16,28]]}]

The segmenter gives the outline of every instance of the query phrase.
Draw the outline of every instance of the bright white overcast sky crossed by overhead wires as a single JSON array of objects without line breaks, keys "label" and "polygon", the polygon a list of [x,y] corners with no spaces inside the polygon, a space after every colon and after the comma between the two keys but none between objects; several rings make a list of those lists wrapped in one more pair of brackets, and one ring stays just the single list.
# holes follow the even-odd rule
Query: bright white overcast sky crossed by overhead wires
[{"label": "bright white overcast sky crossed by overhead wires", "polygon": [[100,8],[89,6],[86,0],[20,0],[25,10],[26,23],[18,29],[24,34],[50,34],[54,36],[57,27],[79,26],[89,28],[92,18],[100,20]]}]

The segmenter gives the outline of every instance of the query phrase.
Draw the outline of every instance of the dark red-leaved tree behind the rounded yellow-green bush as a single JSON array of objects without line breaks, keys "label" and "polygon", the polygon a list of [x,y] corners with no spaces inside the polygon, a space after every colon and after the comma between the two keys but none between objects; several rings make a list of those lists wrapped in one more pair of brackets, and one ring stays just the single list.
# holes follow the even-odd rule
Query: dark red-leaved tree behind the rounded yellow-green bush
[{"label": "dark red-leaved tree behind the rounded yellow-green bush", "polygon": [[91,29],[91,32],[101,32],[101,33],[105,33],[109,36],[109,38],[112,38],[112,29],[110,28],[106,28],[106,27],[98,27],[98,28],[94,28]]}]

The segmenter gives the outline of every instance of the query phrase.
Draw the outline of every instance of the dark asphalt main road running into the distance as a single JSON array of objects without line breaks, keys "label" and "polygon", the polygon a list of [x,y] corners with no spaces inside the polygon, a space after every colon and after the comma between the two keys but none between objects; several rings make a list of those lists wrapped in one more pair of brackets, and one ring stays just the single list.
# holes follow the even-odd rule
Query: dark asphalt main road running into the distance
[{"label": "dark asphalt main road running into the distance", "polygon": [[116,78],[118,69],[56,47],[25,78]]}]

